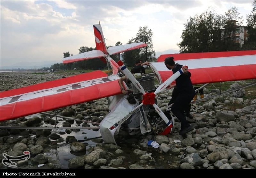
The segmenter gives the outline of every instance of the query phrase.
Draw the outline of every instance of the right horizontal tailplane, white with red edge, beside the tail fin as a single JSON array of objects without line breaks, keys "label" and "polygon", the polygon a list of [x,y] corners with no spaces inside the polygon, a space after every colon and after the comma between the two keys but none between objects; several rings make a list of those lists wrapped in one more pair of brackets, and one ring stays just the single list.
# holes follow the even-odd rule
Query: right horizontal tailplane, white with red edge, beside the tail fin
[{"label": "right horizontal tailplane, white with red edge, beside the tail fin", "polygon": [[118,54],[125,51],[135,50],[138,48],[142,48],[147,46],[147,44],[140,42],[140,43],[132,43],[132,44],[124,44],[120,46],[112,46],[108,48],[108,54]]}]

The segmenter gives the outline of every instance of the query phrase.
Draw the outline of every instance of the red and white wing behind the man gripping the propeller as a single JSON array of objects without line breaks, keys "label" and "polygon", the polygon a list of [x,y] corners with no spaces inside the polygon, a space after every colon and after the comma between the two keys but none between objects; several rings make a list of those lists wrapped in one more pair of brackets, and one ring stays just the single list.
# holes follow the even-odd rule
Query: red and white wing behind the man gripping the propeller
[{"label": "red and white wing behind the man gripping the propeller", "polygon": [[193,84],[256,78],[256,50],[186,53],[161,55],[157,63],[151,63],[161,83],[172,75],[163,62],[170,56],[175,62],[188,66]]}]

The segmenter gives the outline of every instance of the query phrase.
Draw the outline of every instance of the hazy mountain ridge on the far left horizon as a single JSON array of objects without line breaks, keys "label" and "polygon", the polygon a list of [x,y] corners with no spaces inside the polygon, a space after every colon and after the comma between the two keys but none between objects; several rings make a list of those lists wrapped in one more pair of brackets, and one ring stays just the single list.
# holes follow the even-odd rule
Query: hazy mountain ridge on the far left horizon
[{"label": "hazy mountain ridge on the far left horizon", "polygon": [[33,62],[19,62],[10,66],[0,66],[1,70],[4,69],[40,69],[43,67],[51,67],[53,64],[62,63],[62,61],[33,61]]}]

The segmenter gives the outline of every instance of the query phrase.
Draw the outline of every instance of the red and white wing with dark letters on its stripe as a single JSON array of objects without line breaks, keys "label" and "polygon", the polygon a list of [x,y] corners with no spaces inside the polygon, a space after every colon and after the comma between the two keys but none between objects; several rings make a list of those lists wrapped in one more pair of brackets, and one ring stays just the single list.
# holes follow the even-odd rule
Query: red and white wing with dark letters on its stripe
[{"label": "red and white wing with dark letters on its stripe", "polygon": [[119,78],[94,71],[0,92],[0,121],[121,94]]}]

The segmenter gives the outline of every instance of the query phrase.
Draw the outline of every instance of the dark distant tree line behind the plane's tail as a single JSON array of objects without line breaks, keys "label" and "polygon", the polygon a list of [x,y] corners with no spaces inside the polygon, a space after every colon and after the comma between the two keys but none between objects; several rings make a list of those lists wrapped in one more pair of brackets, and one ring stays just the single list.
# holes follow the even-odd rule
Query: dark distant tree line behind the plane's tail
[{"label": "dark distant tree line behind the plane's tail", "polygon": [[[121,58],[127,66],[133,66],[137,59],[141,59],[143,61],[156,61],[156,53],[153,50],[153,42],[152,42],[153,33],[152,30],[148,28],[148,26],[140,27],[136,36],[128,41],[127,44],[144,42],[147,44],[147,47],[124,52],[122,54],[111,55],[110,57],[116,62]],[[120,41],[116,42],[115,46],[122,45]],[[111,46],[107,46],[109,48]],[[93,47],[81,46],[79,49],[79,54],[96,50]],[[69,52],[63,53],[64,58],[69,57]],[[72,56],[72,54],[71,54]],[[69,64],[54,64],[51,66],[54,70],[63,70],[63,69],[85,69],[85,70],[98,70],[98,69],[107,69],[107,64],[104,58],[96,58],[92,60],[84,60],[79,62],[73,62]]]}]

